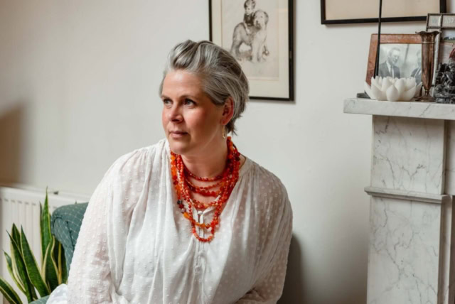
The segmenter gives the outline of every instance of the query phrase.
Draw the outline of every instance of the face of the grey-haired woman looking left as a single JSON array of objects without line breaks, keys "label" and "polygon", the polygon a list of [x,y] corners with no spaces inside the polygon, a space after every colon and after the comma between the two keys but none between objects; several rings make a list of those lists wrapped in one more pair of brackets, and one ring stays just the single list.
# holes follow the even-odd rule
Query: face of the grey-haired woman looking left
[{"label": "face of the grey-haired woman looking left", "polygon": [[223,142],[223,107],[216,107],[203,92],[199,77],[185,70],[168,72],[161,99],[163,128],[174,153],[203,155]]}]

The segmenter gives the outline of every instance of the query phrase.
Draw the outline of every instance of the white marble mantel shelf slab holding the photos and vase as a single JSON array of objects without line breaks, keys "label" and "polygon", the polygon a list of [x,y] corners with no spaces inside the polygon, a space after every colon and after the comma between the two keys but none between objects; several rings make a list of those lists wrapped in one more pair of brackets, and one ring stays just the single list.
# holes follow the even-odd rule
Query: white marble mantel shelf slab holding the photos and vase
[{"label": "white marble mantel shelf slab holding the photos and vase", "polygon": [[375,99],[349,98],[344,101],[344,112],[455,120],[455,104],[435,102],[380,102]]}]

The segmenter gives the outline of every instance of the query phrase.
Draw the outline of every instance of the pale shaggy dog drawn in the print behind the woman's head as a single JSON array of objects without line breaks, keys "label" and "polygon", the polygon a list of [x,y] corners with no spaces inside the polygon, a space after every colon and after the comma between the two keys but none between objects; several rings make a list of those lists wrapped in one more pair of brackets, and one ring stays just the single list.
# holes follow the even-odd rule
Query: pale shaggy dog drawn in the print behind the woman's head
[{"label": "pale shaggy dog drawn in the print behind the woman's head", "polygon": [[245,43],[251,47],[251,53],[248,59],[252,63],[264,61],[263,55],[269,55],[267,49],[267,23],[269,22],[269,15],[260,9],[255,11],[253,16],[253,26],[248,26],[250,33],[247,33],[245,23],[238,23],[234,28],[232,34],[232,46],[230,53],[237,58],[242,60],[240,53],[240,45]]}]

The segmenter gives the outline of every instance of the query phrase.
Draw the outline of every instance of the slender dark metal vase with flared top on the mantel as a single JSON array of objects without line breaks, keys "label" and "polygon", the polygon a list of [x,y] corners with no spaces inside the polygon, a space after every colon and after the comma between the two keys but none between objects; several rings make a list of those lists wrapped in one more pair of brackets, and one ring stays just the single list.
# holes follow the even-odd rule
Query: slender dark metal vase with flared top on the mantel
[{"label": "slender dark metal vase with flared top on the mantel", "polygon": [[434,97],[430,96],[429,89],[432,87],[433,70],[434,70],[434,39],[438,36],[439,31],[421,31],[416,32],[422,37],[422,86],[424,94],[417,98],[419,102],[434,102]]}]

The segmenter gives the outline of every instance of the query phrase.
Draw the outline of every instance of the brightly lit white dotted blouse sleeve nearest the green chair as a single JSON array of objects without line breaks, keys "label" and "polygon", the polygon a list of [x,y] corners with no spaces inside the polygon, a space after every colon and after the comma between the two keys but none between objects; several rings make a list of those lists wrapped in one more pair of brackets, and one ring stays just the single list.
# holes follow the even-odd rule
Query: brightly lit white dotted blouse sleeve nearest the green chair
[{"label": "brightly lit white dotted blouse sleeve nearest the green chair", "polygon": [[145,154],[133,151],[115,161],[85,211],[68,278],[68,303],[127,303],[116,291],[122,278],[125,242],[137,195],[130,178]]}]

